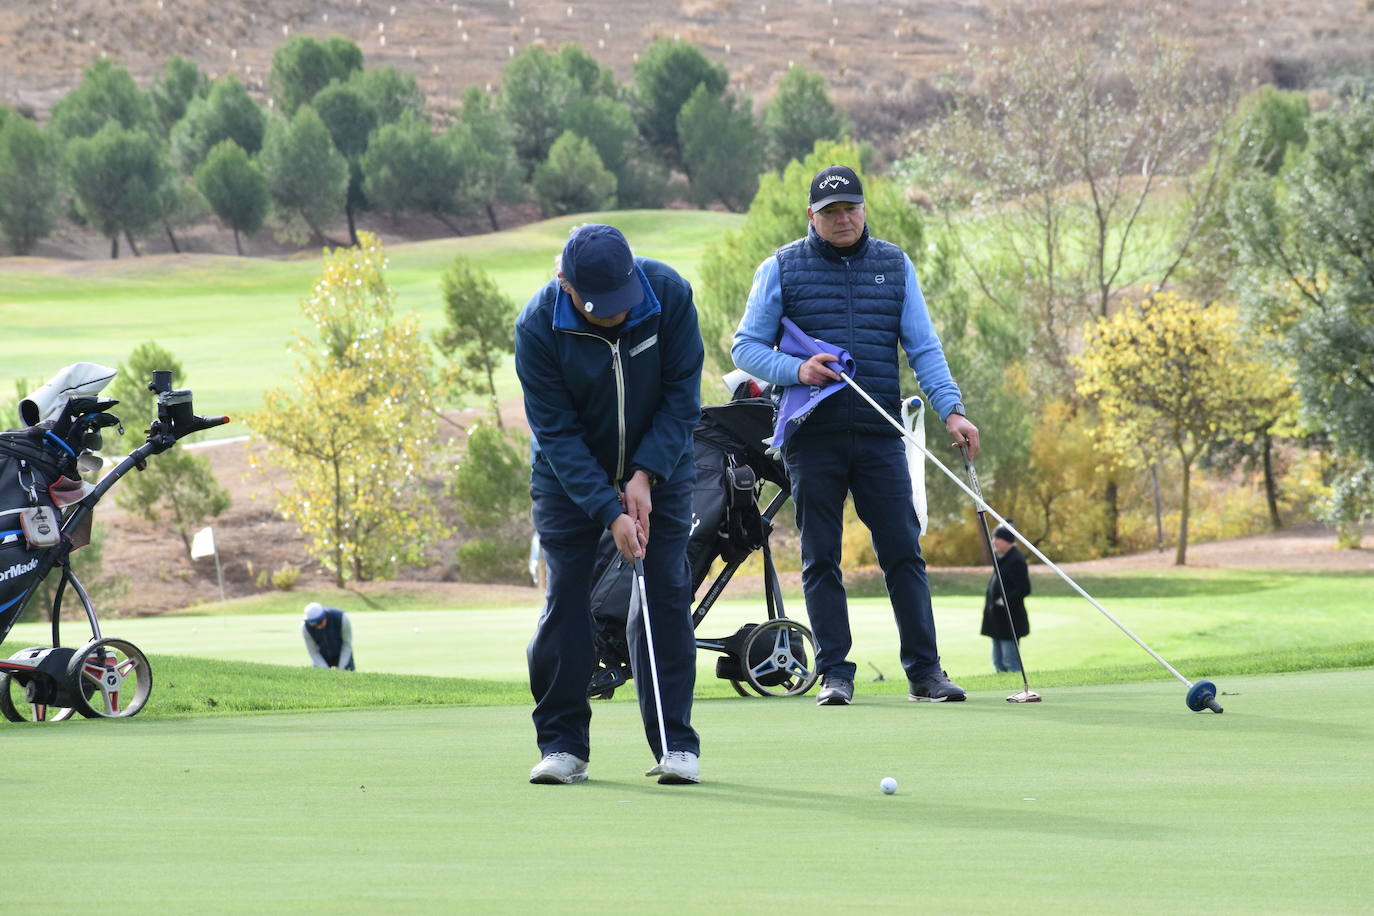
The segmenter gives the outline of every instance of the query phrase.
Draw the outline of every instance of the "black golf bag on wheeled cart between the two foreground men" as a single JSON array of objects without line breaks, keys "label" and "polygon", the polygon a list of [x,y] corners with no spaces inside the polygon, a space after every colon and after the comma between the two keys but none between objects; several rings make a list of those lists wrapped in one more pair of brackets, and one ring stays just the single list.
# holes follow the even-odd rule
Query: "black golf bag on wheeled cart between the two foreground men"
[{"label": "black golf bag on wheeled cart between the two foreground men", "polygon": [[[790,494],[782,461],[771,457],[763,444],[772,434],[772,419],[771,400],[742,397],[702,408],[701,422],[692,433],[697,481],[687,540],[692,593],[705,582],[717,558],[725,563],[697,603],[692,626],[701,623],[735,570],[754,551],[764,552],[768,621],[763,625],[746,623],[724,639],[697,639],[698,648],[723,654],[716,663],[716,676],[731,681],[742,696],[747,696],[745,685],[760,695],[804,694],[816,680],[808,662],[815,658],[815,650],[808,651],[805,645],[811,632],[783,614],[778,575],[768,549],[771,519]],[[758,497],[765,481],[778,485],[779,492],[760,511]],[[625,639],[632,584],[633,567],[606,531],[598,545],[592,574],[591,606],[599,661],[588,685],[589,696],[607,699],[633,676]],[[745,659],[749,659],[747,665]]]}]

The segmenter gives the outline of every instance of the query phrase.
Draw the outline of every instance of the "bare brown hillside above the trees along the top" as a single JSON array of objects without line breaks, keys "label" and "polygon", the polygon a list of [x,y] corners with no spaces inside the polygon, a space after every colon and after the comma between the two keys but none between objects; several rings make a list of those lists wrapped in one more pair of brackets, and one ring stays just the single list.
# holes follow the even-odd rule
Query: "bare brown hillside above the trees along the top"
[{"label": "bare brown hillside above the trees along the top", "polygon": [[287,37],[341,34],[368,66],[414,73],[447,110],[463,88],[499,84],[530,44],[581,44],[628,81],[646,44],[682,37],[757,100],[796,62],[823,73],[846,107],[905,110],[970,48],[1033,40],[1020,27],[1030,10],[1085,34],[1118,16],[1154,21],[1219,66],[1279,84],[1367,65],[1374,34],[1366,0],[0,0],[0,102],[45,113],[102,55],[143,85],[179,54],[265,95]]}]

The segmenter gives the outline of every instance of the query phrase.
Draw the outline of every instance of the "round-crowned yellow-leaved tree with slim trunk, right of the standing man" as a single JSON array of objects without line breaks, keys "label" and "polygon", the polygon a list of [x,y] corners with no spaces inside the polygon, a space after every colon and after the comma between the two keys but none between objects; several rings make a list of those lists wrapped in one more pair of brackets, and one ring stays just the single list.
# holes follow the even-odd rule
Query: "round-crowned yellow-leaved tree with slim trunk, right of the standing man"
[{"label": "round-crowned yellow-leaved tree with slim trunk, right of the standing man", "polygon": [[1253,435],[1256,383],[1272,375],[1242,345],[1237,310],[1202,306],[1162,293],[1090,325],[1084,352],[1073,360],[1081,372],[1079,394],[1096,402],[1102,431],[1134,466],[1156,452],[1179,461],[1179,542],[1173,562],[1183,566],[1189,545],[1189,488],[1194,461],[1221,438]]}]

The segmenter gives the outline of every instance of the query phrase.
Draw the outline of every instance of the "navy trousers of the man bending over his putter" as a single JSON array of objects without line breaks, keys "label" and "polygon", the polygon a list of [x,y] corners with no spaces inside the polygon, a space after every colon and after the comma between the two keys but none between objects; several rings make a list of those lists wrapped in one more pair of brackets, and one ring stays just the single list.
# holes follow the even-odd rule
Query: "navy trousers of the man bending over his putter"
[{"label": "navy trousers of the man bending over his putter", "polygon": [[[691,575],[687,569],[687,533],[691,525],[692,466],[653,490],[644,581],[654,661],[664,703],[664,728],[672,751],[701,753],[691,726],[691,694],[697,684],[697,637],[691,623]],[[529,689],[534,696],[534,733],[541,754],[566,751],[591,759],[592,720],[587,685],[596,667],[592,637],[591,575],[596,560],[600,525],[563,493],[533,494],[534,529],[548,564],[544,612],[526,652]],[[658,761],[658,710],[654,707],[649,643],[638,602],[627,629],[631,667],[644,737]]]}]

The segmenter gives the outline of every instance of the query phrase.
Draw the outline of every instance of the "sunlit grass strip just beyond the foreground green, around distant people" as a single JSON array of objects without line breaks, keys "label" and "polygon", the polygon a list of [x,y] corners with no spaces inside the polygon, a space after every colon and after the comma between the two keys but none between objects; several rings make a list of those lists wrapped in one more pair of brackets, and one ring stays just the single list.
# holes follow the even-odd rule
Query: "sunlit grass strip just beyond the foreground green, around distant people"
[{"label": "sunlit grass strip just beyond the foreground green, around distant people", "polygon": [[[1194,659],[1287,656],[1349,643],[1374,644],[1374,575],[1294,574],[1245,570],[1165,571],[1084,577],[1081,584],[1134,633],[1189,678],[1208,674]],[[991,672],[982,619],[982,578],[934,574],[936,622],[944,665],[963,683]],[[1035,578],[1028,599],[1030,636],[1021,643],[1032,676],[1052,670],[1157,667],[1091,604],[1058,580]],[[977,589],[977,591],[974,591]],[[265,599],[264,599],[265,600]],[[297,596],[273,596],[279,604],[254,604],[250,612],[213,617],[107,619],[107,636],[128,639],[144,651],[213,656],[278,665],[305,665]],[[397,600],[397,610],[365,610],[361,599],[341,600],[353,621],[359,666],[367,672],[477,677],[521,681],[525,647],[537,607],[423,610],[420,596]],[[278,607],[278,612],[268,608]],[[800,596],[786,600],[790,615],[805,622]],[[746,622],[764,619],[763,602],[730,600],[710,610],[702,636],[725,636]],[[853,651],[860,678],[881,670],[900,681],[896,628],[885,597],[851,602]],[[67,623],[65,639],[82,634]],[[0,651],[47,644],[45,623],[22,623]],[[1340,652],[1337,652],[1340,655]],[[714,652],[701,654],[702,683],[714,680]],[[1276,663],[1276,662],[1275,662]],[[1287,666],[1285,666],[1287,667]],[[1162,670],[1162,669],[1161,669]],[[1228,669],[1237,670],[1237,669]],[[1248,672],[1265,670],[1239,669]],[[1080,681],[1081,683],[1081,681]],[[730,689],[728,685],[725,689]]]}]

